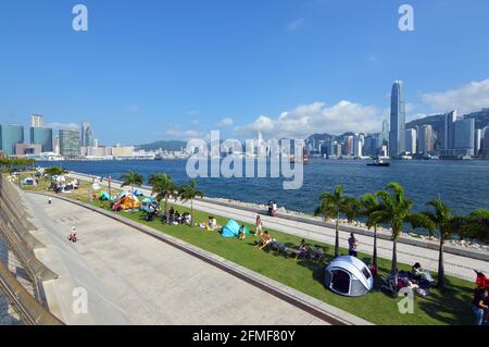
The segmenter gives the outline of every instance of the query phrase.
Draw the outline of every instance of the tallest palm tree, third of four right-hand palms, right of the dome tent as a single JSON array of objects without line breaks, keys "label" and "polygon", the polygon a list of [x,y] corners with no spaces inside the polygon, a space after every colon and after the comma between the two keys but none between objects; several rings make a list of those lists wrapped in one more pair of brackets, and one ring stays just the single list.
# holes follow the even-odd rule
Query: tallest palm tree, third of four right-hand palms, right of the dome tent
[{"label": "tallest palm tree, third of four right-hand palms, right of the dome tent", "polygon": [[378,211],[372,213],[377,223],[389,223],[392,228],[392,268],[391,274],[398,280],[398,238],[402,234],[403,224],[409,219],[413,202],[404,198],[404,188],[396,182],[386,187],[388,190],[377,191],[380,198]]}]

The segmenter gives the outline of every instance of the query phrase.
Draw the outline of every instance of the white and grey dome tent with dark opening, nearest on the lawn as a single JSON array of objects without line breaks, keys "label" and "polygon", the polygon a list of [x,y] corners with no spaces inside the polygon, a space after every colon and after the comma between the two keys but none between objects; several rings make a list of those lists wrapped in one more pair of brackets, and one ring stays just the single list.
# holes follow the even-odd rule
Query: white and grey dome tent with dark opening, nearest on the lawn
[{"label": "white and grey dome tent with dark opening, nearest on the lawn", "polygon": [[325,285],[339,295],[364,296],[374,287],[374,276],[362,260],[341,256],[326,268]]}]

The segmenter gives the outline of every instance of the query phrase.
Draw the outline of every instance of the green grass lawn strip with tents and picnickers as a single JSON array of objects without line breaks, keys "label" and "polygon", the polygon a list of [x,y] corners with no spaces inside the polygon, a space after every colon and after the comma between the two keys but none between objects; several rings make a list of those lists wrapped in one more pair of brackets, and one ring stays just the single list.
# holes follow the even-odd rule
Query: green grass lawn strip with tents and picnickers
[{"label": "green grass lawn strip with tents and picnickers", "polygon": [[[88,194],[68,195],[88,202]],[[106,209],[106,203],[92,202],[95,206]],[[180,213],[188,209],[173,205]],[[467,281],[448,277],[448,288],[440,293],[431,290],[429,298],[415,298],[413,314],[401,314],[397,302],[399,299],[390,298],[380,293],[373,292],[360,298],[347,298],[331,293],[323,285],[324,263],[309,260],[286,259],[284,256],[275,256],[253,247],[254,236],[250,235],[246,240],[235,238],[223,238],[217,232],[202,232],[199,227],[186,225],[165,225],[160,220],[147,222],[142,212],[113,212],[130,220],[151,226],[161,233],[172,235],[191,245],[218,255],[244,268],[255,271],[269,278],[284,283],[297,290],[323,300],[329,305],[341,308],[350,313],[359,315],[376,324],[396,325],[432,325],[432,324],[472,324],[474,321],[471,310],[474,284]],[[227,219],[215,215],[220,225],[225,225]],[[208,214],[195,211],[197,222],[206,222]],[[239,221],[238,221],[239,222]],[[251,230],[254,227],[242,223]],[[294,247],[300,244],[301,238],[268,230],[278,241]],[[323,247],[327,253],[326,262],[333,259],[334,247],[316,241],[311,244]],[[347,250],[341,250],[347,253]],[[359,257],[365,262],[371,261],[371,255],[360,253]],[[385,276],[390,269],[390,261],[379,259],[379,273]],[[400,269],[410,270],[410,265],[400,264]],[[434,274],[435,276],[436,274]]]}]

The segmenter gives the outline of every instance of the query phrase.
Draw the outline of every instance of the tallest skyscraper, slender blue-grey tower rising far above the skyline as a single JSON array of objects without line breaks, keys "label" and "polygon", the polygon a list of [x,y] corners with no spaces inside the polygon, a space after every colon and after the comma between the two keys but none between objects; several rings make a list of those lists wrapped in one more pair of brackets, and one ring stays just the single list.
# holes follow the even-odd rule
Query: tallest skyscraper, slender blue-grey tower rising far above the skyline
[{"label": "tallest skyscraper, slender blue-grey tower rising far above the skyline", "polygon": [[390,100],[389,156],[399,157],[405,152],[405,101],[404,86],[396,80]]}]

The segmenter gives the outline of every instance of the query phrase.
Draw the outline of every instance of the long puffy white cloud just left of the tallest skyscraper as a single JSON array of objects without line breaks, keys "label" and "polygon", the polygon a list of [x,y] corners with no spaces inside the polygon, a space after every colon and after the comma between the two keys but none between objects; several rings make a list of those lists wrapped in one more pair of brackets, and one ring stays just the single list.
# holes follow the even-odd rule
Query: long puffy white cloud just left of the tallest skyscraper
[{"label": "long puffy white cloud just left of the tallest skyscraper", "polygon": [[368,133],[381,128],[383,115],[373,106],[362,106],[342,100],[333,107],[324,102],[300,106],[272,119],[260,115],[253,123],[236,126],[235,135],[254,137],[262,132],[265,137],[305,138],[315,133]]}]

